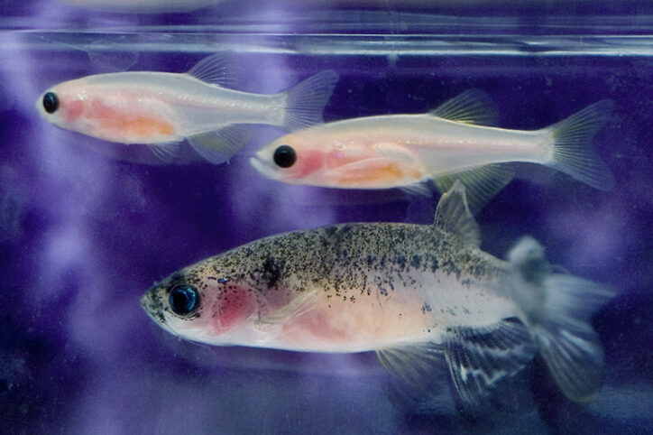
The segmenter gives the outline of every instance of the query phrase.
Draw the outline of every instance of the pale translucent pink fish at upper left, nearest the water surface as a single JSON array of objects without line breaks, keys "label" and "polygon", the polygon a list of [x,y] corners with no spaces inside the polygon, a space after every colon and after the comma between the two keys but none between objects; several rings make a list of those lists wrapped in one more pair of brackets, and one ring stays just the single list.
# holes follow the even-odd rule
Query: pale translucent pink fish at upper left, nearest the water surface
[{"label": "pale translucent pink fish at upper left, nearest the water surface", "polygon": [[220,52],[187,73],[126,71],[62,82],[37,99],[51,124],[115,143],[144,143],[164,162],[188,139],[208,162],[225,162],[247,142],[249,125],[290,130],[322,122],[336,87],[332,69],[273,95],[226,88],[234,57]]}]

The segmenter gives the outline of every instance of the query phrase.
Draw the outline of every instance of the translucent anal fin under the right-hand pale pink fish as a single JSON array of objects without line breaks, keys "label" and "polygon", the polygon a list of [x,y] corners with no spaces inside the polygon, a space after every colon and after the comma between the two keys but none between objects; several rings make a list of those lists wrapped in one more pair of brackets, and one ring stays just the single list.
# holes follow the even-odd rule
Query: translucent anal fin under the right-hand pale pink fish
[{"label": "translucent anal fin under the right-hand pale pink fish", "polygon": [[464,184],[467,203],[472,214],[478,213],[483,206],[501,191],[514,177],[515,172],[505,164],[488,164],[468,171],[456,172],[434,178],[437,190],[446,192],[455,180]]}]

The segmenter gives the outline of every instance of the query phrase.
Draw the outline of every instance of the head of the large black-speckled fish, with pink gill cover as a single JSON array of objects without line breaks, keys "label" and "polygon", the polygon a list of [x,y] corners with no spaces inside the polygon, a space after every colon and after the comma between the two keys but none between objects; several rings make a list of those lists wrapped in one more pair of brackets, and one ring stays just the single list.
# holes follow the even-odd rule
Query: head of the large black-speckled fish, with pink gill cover
[{"label": "head of the large black-speckled fish, with pink gill cover", "polygon": [[141,306],[161,328],[181,338],[239,345],[252,333],[257,301],[245,282],[219,276],[205,261],[152,285]]}]

